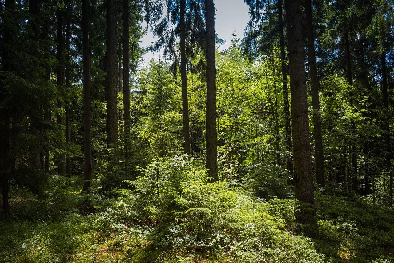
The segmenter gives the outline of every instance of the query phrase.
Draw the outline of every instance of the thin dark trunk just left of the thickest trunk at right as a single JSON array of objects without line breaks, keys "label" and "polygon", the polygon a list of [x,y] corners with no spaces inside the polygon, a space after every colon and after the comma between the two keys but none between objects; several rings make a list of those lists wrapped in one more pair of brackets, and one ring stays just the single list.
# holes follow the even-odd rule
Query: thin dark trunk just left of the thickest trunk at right
[{"label": "thin dark trunk just left of the thickest trunk at right", "polygon": [[[282,0],[278,0],[278,16],[279,16],[279,41],[281,45],[281,60],[282,60],[282,89],[284,102],[284,132],[286,134],[286,152],[292,151],[292,133],[290,126],[290,106],[289,93],[287,88],[287,70],[286,70],[286,53],[284,50],[284,25],[282,14]],[[293,160],[291,156],[285,156],[287,169],[293,171]]]}]

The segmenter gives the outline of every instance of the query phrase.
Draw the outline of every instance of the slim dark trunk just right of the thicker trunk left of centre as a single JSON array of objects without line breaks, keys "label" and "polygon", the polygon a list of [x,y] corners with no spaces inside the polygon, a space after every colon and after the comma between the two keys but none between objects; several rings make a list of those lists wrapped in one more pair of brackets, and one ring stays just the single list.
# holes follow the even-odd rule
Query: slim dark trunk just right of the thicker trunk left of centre
[{"label": "slim dark trunk just right of the thicker trunk left of centre", "polygon": [[[129,0],[123,0],[123,118],[125,126],[125,152],[128,158],[130,137],[130,40],[129,40]],[[127,161],[126,161],[127,162]]]}]

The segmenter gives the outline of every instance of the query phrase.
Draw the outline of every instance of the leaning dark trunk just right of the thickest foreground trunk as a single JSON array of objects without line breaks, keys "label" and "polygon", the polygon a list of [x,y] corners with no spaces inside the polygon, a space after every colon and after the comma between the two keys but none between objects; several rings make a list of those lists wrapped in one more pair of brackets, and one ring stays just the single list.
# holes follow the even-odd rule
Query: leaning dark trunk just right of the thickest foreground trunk
[{"label": "leaning dark trunk just right of the thickest foreground trunk", "polygon": [[308,60],[310,85],[312,88],[312,109],[313,109],[313,137],[315,145],[316,179],[319,186],[325,186],[324,180],[324,160],[322,142],[322,123],[320,121],[320,100],[319,100],[319,80],[316,68],[316,54],[314,45],[312,4],[310,0],[305,0],[305,19],[308,38]]}]

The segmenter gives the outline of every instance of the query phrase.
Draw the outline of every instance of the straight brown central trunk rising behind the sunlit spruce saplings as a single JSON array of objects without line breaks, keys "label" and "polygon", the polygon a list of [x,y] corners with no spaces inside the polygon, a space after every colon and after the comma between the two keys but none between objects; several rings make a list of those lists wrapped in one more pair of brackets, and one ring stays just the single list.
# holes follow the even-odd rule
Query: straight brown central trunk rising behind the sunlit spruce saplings
[{"label": "straight brown central trunk rising behind the sunlit spruce saplings", "polygon": [[213,0],[205,0],[206,19],[206,169],[212,182],[217,174],[216,142],[216,65],[215,65],[215,7]]}]

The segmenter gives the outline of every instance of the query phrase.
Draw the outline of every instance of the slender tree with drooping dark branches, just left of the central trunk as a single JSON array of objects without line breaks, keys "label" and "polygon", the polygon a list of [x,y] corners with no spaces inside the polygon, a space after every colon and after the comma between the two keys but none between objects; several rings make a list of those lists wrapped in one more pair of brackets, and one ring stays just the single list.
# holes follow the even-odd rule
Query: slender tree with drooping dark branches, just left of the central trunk
[{"label": "slender tree with drooping dark branches, just left of the central trunk", "polygon": [[[188,69],[193,71],[195,68],[199,68],[199,70],[203,68],[201,66],[203,64],[202,60],[197,63],[197,66],[193,66],[190,60],[195,58],[196,50],[201,49],[204,45],[204,22],[201,15],[200,1],[166,0],[165,4],[167,13],[164,19],[154,28],[154,34],[159,39],[152,50],[158,51],[163,48],[164,55],[173,60],[170,69],[174,73],[174,77],[177,77],[178,67],[180,66],[184,152],[189,154],[190,127],[187,71]],[[172,23],[171,28],[169,28],[169,22]],[[178,53],[178,51],[180,52]]]}]

